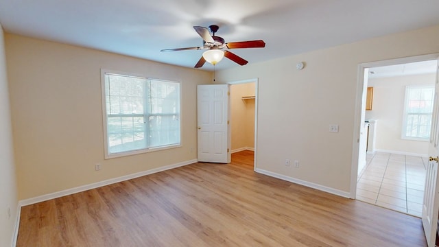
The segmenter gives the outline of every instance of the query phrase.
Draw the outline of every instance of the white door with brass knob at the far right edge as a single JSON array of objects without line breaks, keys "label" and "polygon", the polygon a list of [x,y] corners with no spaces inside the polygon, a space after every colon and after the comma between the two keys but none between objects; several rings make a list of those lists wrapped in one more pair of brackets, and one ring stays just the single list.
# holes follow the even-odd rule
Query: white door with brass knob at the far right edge
[{"label": "white door with brass knob at the far right edge", "polygon": [[[439,64],[439,61],[438,61]],[[439,68],[439,67],[438,67]],[[439,70],[439,69],[438,69]],[[439,214],[438,188],[438,156],[439,156],[439,73],[436,72],[436,89],[434,97],[434,113],[431,123],[431,139],[429,145],[429,163],[425,178],[425,192],[423,202],[423,226],[427,244],[436,246],[436,231]]]}]

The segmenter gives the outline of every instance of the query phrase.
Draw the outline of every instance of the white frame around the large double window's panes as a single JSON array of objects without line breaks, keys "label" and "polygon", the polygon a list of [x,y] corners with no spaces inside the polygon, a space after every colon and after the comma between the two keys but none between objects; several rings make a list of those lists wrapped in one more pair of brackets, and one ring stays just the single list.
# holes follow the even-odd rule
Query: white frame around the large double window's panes
[{"label": "white frame around the large double window's panes", "polygon": [[[126,151],[126,152],[116,152],[116,153],[110,153],[108,150],[108,116],[107,116],[107,110],[106,110],[106,74],[115,74],[115,75],[123,75],[123,76],[128,76],[128,77],[136,77],[136,78],[143,78],[145,80],[154,80],[154,81],[163,81],[163,82],[175,82],[180,84],[179,88],[180,88],[180,95],[179,95],[179,107],[180,107],[180,142],[179,143],[175,143],[175,144],[170,144],[170,145],[162,145],[159,147],[150,147],[150,148],[143,148],[143,149],[139,149],[139,150],[131,150],[131,151]],[[121,157],[121,156],[130,156],[130,155],[134,155],[134,154],[142,154],[142,153],[147,153],[147,152],[155,152],[155,151],[159,151],[159,150],[168,150],[171,148],[180,148],[182,146],[182,86],[181,86],[181,82],[178,82],[176,80],[163,80],[163,79],[156,79],[156,78],[147,78],[147,76],[145,75],[141,75],[141,74],[137,74],[137,73],[127,73],[127,72],[122,72],[122,71],[113,71],[110,69],[101,69],[101,91],[102,91],[102,119],[103,119],[103,127],[104,127],[104,154],[105,154],[105,158],[117,158],[117,157]],[[146,94],[146,91],[145,91]],[[147,95],[144,95],[145,99],[147,99]],[[150,114],[150,113],[143,113],[142,116],[149,117],[150,115],[156,115],[156,114]],[[145,137],[147,137],[149,130],[146,128],[145,129]],[[149,141],[146,139],[146,141]]]}]

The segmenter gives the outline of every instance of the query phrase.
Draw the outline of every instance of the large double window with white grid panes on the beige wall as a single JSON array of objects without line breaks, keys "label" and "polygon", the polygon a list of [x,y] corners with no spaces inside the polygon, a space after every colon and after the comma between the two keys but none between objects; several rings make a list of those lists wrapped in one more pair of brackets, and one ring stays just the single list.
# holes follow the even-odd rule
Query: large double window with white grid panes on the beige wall
[{"label": "large double window with white grid panes on the beige wall", "polygon": [[102,71],[106,158],[180,145],[180,83]]}]

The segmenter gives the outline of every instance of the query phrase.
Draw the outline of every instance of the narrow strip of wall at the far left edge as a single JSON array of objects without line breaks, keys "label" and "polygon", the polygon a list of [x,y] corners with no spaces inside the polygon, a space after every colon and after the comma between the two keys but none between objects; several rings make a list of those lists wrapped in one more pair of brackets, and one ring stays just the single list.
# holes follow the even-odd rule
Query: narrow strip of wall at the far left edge
[{"label": "narrow strip of wall at the far left edge", "polygon": [[0,25],[0,246],[11,246],[18,217],[18,200],[4,48],[3,28]]}]

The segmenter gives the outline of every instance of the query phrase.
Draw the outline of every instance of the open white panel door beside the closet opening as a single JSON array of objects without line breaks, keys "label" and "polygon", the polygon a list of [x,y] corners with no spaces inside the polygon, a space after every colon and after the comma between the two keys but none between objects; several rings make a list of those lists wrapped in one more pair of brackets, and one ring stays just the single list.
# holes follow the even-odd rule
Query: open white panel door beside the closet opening
[{"label": "open white panel door beside the closet opening", "polygon": [[198,161],[229,163],[228,85],[198,85]]}]

